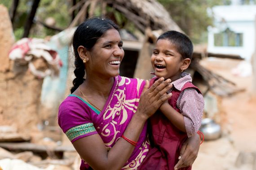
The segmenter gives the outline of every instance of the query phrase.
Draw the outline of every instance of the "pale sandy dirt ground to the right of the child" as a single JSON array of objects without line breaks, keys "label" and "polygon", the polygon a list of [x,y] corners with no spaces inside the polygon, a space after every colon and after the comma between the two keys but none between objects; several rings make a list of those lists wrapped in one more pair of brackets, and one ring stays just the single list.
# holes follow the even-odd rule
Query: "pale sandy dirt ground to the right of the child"
[{"label": "pale sandy dirt ground to the right of the child", "polygon": [[245,91],[223,98],[222,109],[227,118],[225,128],[229,133],[218,140],[203,142],[193,165],[194,170],[256,168],[256,100],[252,98],[252,76],[242,77],[232,73],[239,63],[241,61],[234,59],[203,60],[201,63]]}]

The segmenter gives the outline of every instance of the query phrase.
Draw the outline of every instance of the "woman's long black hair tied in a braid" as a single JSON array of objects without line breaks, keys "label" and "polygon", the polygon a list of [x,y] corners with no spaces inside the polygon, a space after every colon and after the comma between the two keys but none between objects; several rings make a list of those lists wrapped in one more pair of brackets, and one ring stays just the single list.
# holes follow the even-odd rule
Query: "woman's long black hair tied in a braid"
[{"label": "woman's long black hair tied in a braid", "polygon": [[110,29],[119,31],[119,27],[114,21],[103,18],[90,18],[80,24],[73,35],[72,45],[75,54],[75,79],[73,80],[73,87],[71,93],[75,91],[84,82],[85,67],[83,60],[78,54],[78,47],[84,46],[86,50],[90,51],[97,40]]}]

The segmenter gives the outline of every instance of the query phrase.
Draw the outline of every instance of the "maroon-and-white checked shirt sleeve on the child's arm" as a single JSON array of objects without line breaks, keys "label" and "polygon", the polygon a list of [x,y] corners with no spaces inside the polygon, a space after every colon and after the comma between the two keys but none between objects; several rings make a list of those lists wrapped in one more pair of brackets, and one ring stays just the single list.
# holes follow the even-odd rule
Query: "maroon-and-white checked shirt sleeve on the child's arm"
[{"label": "maroon-and-white checked shirt sleeve on the child's arm", "polygon": [[204,99],[196,89],[189,88],[181,92],[177,107],[184,116],[185,128],[188,137],[193,136],[200,128],[204,109]]}]

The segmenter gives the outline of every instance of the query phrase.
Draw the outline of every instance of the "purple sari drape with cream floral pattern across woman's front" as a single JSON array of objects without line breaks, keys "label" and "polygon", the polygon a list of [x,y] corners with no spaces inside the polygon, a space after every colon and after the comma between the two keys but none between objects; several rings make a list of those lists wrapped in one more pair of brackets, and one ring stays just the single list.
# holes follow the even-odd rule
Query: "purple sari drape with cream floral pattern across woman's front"
[{"label": "purple sari drape with cream floral pattern across woman's front", "polygon": [[[143,83],[141,79],[130,79],[121,76],[116,76],[115,81],[117,83],[113,87],[112,93],[110,92],[111,97],[109,97],[104,107],[106,109],[102,110],[103,112],[99,115],[103,119],[96,126],[97,132],[101,135],[106,147],[110,148],[122,136],[132,115],[136,112]],[[144,140],[139,140],[138,148],[134,149],[136,151],[131,156],[133,159],[129,159],[122,169],[136,170],[146,157],[149,142],[145,140],[145,136]]]}]

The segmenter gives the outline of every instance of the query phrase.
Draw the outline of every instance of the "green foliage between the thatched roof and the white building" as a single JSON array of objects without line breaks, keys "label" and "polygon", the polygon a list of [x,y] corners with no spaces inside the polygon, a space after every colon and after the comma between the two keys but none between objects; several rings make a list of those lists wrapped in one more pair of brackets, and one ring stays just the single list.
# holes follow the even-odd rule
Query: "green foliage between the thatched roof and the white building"
[{"label": "green foliage between the thatched roof and the white building", "polygon": [[[214,5],[229,3],[229,0],[158,0],[168,10],[172,19],[194,43],[206,42],[204,32],[213,19],[207,9]],[[202,42],[203,41],[203,42]]]}]

